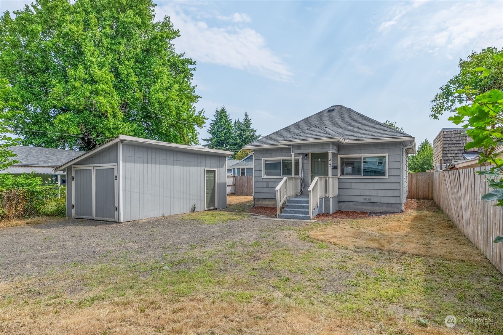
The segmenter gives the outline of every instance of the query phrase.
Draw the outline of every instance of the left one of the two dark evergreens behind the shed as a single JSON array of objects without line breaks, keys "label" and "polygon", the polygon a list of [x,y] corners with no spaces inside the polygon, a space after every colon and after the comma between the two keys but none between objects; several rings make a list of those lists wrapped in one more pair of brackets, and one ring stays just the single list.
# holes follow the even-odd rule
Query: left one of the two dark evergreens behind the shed
[{"label": "left one of the two dark evergreens behind the shed", "polygon": [[[215,109],[215,114],[213,114],[213,119],[210,122],[210,127],[211,128],[208,130],[210,137],[203,138],[203,141],[207,142],[206,144],[204,144],[205,147],[229,151],[235,150],[233,124],[232,120],[229,117],[229,113],[227,113],[227,110],[224,106],[222,106],[220,109],[218,107]],[[239,148],[237,149],[239,150]]]}]

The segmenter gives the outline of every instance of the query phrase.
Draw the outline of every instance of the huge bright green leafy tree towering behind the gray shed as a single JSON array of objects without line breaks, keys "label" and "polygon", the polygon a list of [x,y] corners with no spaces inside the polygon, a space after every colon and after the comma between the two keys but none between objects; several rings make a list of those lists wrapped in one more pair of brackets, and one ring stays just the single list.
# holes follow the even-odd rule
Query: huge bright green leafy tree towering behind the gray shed
[{"label": "huge bright green leafy tree towering behind the gray shed", "polygon": [[155,22],[154,6],[37,0],[0,18],[0,76],[20,103],[23,144],[89,150],[119,134],[198,143],[195,62],[176,53],[179,31],[167,16]]}]

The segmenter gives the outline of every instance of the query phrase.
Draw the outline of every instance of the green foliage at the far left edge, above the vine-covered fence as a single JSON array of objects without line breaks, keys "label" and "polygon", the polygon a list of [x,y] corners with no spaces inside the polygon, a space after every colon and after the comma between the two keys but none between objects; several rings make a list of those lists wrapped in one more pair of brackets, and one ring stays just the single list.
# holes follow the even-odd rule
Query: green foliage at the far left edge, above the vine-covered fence
[{"label": "green foliage at the far left edge, above the vine-covered fence", "polygon": [[16,154],[9,147],[18,144],[19,139],[12,138],[8,134],[12,132],[14,126],[8,119],[12,118],[16,112],[16,104],[7,100],[11,91],[9,82],[0,79],[0,170],[5,170],[19,160],[12,159]]}]

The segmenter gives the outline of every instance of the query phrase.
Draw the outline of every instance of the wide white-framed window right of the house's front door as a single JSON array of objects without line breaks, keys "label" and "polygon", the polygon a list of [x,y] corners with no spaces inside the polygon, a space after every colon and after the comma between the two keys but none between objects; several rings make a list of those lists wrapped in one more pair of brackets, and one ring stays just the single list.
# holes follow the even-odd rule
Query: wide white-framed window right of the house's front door
[{"label": "wide white-framed window right of the house's front door", "polygon": [[339,176],[387,177],[387,155],[340,155]]}]

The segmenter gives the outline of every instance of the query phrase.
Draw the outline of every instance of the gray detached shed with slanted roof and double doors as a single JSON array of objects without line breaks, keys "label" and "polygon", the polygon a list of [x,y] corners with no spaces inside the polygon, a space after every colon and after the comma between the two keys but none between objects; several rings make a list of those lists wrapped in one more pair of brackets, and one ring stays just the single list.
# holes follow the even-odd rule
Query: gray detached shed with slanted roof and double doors
[{"label": "gray detached shed with slanted roof and double doors", "polygon": [[227,207],[231,154],[120,135],[54,170],[67,217],[124,222]]}]

